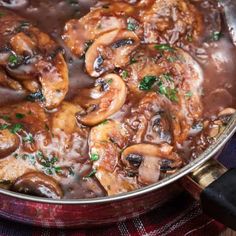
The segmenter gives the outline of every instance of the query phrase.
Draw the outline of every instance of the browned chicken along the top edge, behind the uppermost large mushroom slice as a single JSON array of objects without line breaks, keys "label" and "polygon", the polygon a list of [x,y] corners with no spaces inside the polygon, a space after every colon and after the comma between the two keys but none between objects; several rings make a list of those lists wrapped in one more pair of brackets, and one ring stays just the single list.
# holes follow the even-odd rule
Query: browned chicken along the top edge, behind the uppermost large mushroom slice
[{"label": "browned chicken along the top edge, behind the uppermost large mushroom slice", "polygon": [[[209,32],[221,30],[219,11],[210,4],[210,14],[205,16],[196,5],[188,0],[99,1],[84,17],[66,23],[63,39],[77,56],[85,54],[102,34],[122,29],[133,31],[144,44],[168,43],[188,48],[201,38],[210,37]],[[208,32],[204,21],[211,22]]]}]

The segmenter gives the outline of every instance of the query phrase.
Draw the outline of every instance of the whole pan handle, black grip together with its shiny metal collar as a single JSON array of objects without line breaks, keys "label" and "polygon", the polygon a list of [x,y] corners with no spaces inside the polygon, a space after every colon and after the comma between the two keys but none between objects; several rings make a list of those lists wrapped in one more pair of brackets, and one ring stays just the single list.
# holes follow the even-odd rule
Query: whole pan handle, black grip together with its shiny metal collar
[{"label": "whole pan handle, black grip together with its shiny metal collar", "polygon": [[236,169],[211,159],[181,182],[200,200],[204,213],[236,230]]}]

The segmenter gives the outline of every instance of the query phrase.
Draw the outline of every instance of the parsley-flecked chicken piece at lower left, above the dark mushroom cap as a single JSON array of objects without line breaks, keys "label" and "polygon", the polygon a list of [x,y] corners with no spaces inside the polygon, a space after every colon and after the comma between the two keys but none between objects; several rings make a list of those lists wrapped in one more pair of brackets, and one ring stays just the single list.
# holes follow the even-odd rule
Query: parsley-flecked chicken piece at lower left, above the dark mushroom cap
[{"label": "parsley-flecked chicken piece at lower left, above the dark mushroom cap", "polygon": [[87,159],[88,129],[77,125],[80,110],[69,102],[62,103],[50,116],[38,103],[1,107],[0,180],[13,185],[24,180],[22,184],[27,186],[31,184],[27,174],[35,172],[39,173],[34,174],[39,176],[37,182],[49,176],[49,183],[55,187],[58,181],[64,188],[71,184],[68,180],[73,183],[77,175],[83,176],[83,169],[90,166],[82,164]]}]

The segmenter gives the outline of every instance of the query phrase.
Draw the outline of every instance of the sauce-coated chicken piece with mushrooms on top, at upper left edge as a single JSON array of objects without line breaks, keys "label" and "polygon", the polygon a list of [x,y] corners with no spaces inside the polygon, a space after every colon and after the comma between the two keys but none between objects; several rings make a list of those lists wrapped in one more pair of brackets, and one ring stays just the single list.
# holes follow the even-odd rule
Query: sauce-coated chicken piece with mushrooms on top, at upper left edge
[{"label": "sauce-coated chicken piece with mushrooms on top, at upper left edge", "polygon": [[2,7],[0,11],[0,84],[41,92],[37,99],[46,108],[57,107],[68,91],[62,50],[27,19]]}]

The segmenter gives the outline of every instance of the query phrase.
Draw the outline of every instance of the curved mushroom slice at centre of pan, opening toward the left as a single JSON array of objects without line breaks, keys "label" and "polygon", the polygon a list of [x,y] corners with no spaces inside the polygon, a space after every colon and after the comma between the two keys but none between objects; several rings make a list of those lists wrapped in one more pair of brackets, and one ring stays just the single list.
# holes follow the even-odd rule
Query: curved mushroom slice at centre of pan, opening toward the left
[{"label": "curved mushroom slice at centre of pan, opening toward the left", "polygon": [[77,119],[88,126],[99,124],[119,111],[127,95],[124,81],[116,74],[104,76],[97,80],[95,88],[84,92],[90,97],[85,100],[79,96],[74,102],[86,109],[85,112],[78,113]]}]

